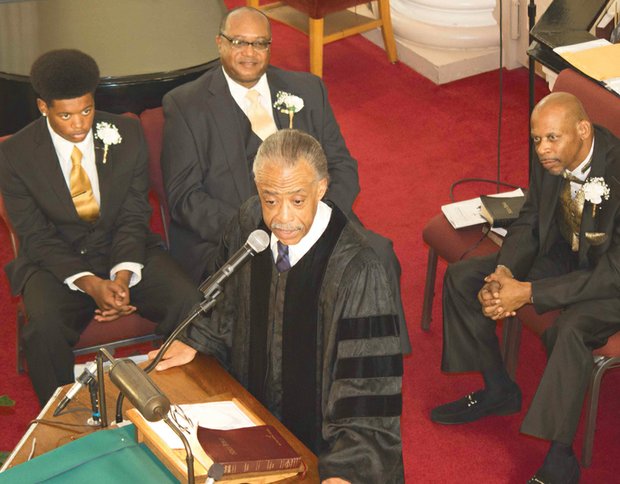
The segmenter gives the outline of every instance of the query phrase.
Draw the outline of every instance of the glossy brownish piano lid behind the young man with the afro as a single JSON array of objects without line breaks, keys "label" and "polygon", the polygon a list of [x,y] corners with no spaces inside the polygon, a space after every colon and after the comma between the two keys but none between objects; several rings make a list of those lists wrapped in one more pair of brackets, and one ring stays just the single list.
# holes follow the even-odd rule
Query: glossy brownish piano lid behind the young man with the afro
[{"label": "glossy brownish piano lid behind the young man with the afro", "polygon": [[0,73],[28,76],[52,49],[92,55],[105,78],[164,73],[218,57],[223,0],[0,0]]}]

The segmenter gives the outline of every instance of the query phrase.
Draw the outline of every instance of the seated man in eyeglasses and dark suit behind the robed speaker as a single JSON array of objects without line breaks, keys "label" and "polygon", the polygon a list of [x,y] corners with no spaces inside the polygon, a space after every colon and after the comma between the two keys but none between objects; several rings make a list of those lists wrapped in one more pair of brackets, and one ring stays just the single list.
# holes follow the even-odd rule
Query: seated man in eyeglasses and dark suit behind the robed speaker
[{"label": "seated man in eyeglasses and dark suit behind the robed speaker", "polygon": [[[331,180],[326,198],[357,220],[352,212],[359,193],[357,162],[321,79],[269,65],[271,27],[259,10],[241,7],[228,12],[216,42],[221,68],[163,99],[161,161],[172,218],[171,252],[196,282],[215,269],[209,261],[226,223],[256,194],[254,156],[262,140],[278,129],[296,128],[319,140]],[[391,280],[406,354],[411,348],[400,302],[400,264],[389,240],[372,237]]]}]

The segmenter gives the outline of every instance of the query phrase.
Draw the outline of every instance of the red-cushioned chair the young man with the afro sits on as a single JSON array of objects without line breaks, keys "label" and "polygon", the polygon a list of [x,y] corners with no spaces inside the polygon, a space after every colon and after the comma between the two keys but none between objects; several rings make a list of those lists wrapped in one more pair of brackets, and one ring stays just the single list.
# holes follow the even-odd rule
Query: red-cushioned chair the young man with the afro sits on
[{"label": "red-cushioned chair the young man with the afro sits on", "polygon": [[[135,117],[135,115],[134,115]],[[0,137],[0,142],[7,139],[8,136]],[[4,206],[4,198],[0,195],[0,218],[9,233],[13,256],[17,257],[19,250],[19,239],[13,225],[8,217]],[[23,329],[28,324],[26,308],[21,297],[17,301],[17,372],[23,373],[25,368],[25,355],[22,344]],[[115,348],[128,346],[133,344],[144,343],[148,341],[160,340],[161,336],[155,334],[156,324],[139,314],[130,314],[123,316],[109,323],[97,323],[94,319],[88,324],[79,341],[73,348],[73,354],[83,355],[96,352],[100,347],[105,347],[108,351],[114,352]]]}]

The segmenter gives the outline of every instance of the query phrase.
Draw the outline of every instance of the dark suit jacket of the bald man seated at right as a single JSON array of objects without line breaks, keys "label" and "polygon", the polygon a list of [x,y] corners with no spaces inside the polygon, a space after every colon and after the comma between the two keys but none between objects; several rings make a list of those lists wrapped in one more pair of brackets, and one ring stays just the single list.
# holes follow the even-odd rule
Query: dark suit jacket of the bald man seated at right
[{"label": "dark suit jacket of the bald man seated at right", "polygon": [[[610,188],[592,215],[585,202],[579,237],[579,268],[563,276],[532,283],[534,306],[538,312],[566,307],[580,301],[620,297],[620,140],[604,128],[594,128],[594,153],[590,178],[603,177]],[[556,214],[562,177],[550,175],[535,163],[528,197],[519,218],[508,230],[498,264],[509,267],[523,280],[534,259],[549,253],[561,237]],[[606,234],[598,245],[591,244],[586,232]]]}]

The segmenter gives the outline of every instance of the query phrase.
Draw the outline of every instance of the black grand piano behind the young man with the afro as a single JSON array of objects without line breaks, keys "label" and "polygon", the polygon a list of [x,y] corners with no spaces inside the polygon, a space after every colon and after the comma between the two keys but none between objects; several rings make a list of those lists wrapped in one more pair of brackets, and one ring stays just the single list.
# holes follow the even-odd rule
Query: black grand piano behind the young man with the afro
[{"label": "black grand piano behind the young man with the afro", "polygon": [[223,0],[0,0],[0,135],[39,116],[28,73],[40,54],[87,52],[97,107],[140,113],[214,65],[225,11]]}]

